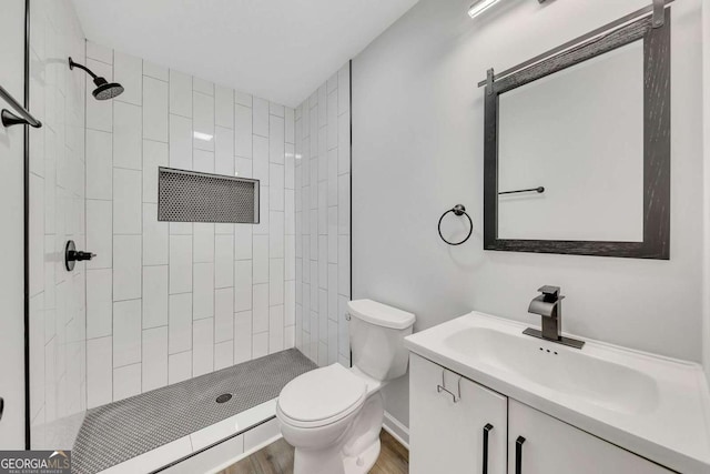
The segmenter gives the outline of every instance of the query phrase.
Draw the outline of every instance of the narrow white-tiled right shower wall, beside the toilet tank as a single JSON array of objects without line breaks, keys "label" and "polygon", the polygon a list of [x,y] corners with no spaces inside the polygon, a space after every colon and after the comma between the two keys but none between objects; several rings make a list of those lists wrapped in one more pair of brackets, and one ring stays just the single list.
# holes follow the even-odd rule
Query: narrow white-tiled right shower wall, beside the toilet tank
[{"label": "narrow white-tiled right shower wall, beside the toilet tank", "polygon": [[296,109],[296,346],[349,366],[351,74],[344,65]]}]

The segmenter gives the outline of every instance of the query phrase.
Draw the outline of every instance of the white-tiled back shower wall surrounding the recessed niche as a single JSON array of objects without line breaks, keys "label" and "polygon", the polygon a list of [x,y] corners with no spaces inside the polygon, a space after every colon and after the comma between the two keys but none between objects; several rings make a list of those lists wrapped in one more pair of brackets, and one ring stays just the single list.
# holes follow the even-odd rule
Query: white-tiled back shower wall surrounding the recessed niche
[{"label": "white-tiled back shower wall surrounding the recessed niche", "polygon": [[[87,57],[125,88],[87,102],[89,407],[292,347],[294,110],[91,42]],[[261,180],[261,223],[158,222],[161,165]]]}]

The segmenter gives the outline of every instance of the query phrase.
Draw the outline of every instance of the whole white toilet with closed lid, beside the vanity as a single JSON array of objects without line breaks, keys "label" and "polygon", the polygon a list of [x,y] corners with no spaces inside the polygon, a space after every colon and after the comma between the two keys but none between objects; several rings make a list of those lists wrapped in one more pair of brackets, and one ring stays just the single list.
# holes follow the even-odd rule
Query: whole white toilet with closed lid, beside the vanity
[{"label": "whole white toilet with closed lid, beside the vanity", "polygon": [[372,300],[347,304],[353,367],[333,364],[291,381],[278,395],[281,433],[294,474],[359,474],[379,455],[381,389],[407,372],[404,337],[415,316]]}]

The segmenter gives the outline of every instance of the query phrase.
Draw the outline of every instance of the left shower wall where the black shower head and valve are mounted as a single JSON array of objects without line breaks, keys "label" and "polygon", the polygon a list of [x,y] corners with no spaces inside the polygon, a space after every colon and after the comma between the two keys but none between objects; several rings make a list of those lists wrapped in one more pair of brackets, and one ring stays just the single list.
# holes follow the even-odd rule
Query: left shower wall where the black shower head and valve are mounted
[{"label": "left shower wall where the black shower head and valve are mounted", "polygon": [[43,124],[29,129],[32,447],[71,448],[87,409],[85,273],[63,254],[67,240],[84,245],[85,75],[67,58],[83,62],[84,36],[69,0],[32,1],[30,14],[30,110]]}]

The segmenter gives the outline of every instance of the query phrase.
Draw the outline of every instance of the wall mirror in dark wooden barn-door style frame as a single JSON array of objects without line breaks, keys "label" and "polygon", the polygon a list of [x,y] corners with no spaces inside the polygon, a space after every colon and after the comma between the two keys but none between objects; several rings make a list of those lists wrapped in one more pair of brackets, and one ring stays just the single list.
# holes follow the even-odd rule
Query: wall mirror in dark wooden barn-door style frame
[{"label": "wall mirror in dark wooden barn-door style frame", "polygon": [[485,249],[669,258],[669,39],[647,17],[489,73]]}]

